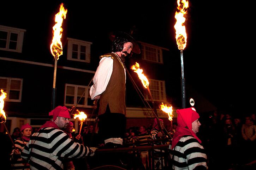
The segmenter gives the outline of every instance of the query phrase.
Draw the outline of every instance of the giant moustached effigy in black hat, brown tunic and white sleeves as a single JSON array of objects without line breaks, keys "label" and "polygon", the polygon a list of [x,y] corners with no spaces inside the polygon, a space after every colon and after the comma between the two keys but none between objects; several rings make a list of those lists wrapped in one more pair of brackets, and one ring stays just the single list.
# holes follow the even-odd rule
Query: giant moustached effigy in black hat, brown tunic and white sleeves
[{"label": "giant moustached effigy in black hat, brown tunic and white sleeves", "polygon": [[114,37],[112,53],[100,56],[90,88],[91,99],[99,99],[99,134],[106,148],[123,145],[126,129],[124,61],[132,52],[140,53],[138,44],[130,35],[118,32],[111,37]]}]

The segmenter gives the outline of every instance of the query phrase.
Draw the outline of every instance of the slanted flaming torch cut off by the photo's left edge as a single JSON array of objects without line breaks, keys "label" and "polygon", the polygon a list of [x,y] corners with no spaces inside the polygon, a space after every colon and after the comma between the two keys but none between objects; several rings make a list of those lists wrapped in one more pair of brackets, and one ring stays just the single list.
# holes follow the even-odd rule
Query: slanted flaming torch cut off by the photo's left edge
[{"label": "slanted flaming torch cut off by the photo's left edge", "polygon": [[6,125],[5,125],[6,115],[5,115],[5,111],[4,111],[4,104],[5,104],[4,99],[6,98],[6,95],[7,95],[6,92],[4,92],[4,90],[1,89],[1,96],[0,96],[0,123],[3,123],[3,125],[4,125],[4,127],[6,129],[6,132],[7,132],[8,136],[9,136],[11,142],[12,142],[13,147],[14,147],[14,149],[16,149],[16,146],[14,145],[14,142],[12,141],[12,137],[11,137],[11,135],[10,135]]}]

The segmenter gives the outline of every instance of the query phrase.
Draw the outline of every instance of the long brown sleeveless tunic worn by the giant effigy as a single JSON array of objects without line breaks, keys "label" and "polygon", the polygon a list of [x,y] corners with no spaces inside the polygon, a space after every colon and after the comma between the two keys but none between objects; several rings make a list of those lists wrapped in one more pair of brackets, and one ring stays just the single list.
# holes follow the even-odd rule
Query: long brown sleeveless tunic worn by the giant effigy
[{"label": "long brown sleeveless tunic worn by the giant effigy", "polygon": [[99,115],[106,112],[107,105],[111,113],[121,113],[125,115],[125,73],[121,61],[113,53],[100,56],[113,59],[113,72],[106,87],[100,96]]}]

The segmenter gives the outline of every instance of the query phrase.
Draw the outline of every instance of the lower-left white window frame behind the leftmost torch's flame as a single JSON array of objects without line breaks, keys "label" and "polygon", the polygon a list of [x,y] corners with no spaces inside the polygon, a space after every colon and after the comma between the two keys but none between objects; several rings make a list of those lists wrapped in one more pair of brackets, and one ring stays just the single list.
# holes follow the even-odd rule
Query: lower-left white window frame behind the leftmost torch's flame
[{"label": "lower-left white window frame behind the leftmost torch's flame", "polygon": [[[5,98],[5,101],[6,101],[6,102],[21,102],[23,79],[19,79],[19,78],[9,78],[9,77],[0,77],[0,79],[7,79],[6,89],[0,87],[0,89],[3,89],[3,90],[7,93],[6,98]],[[19,99],[9,99],[10,90],[12,90],[12,89],[11,89],[11,80],[20,80]],[[18,90],[15,89],[15,91],[18,91]]]}]

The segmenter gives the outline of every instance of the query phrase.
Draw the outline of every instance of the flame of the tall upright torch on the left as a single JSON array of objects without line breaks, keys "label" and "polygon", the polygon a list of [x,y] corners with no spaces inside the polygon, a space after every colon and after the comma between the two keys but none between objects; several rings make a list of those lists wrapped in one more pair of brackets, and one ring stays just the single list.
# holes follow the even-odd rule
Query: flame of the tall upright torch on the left
[{"label": "flame of the tall upright torch on the left", "polygon": [[60,12],[58,12],[55,15],[55,25],[53,26],[53,40],[52,44],[50,45],[50,50],[52,52],[52,55],[57,57],[57,60],[59,59],[59,56],[62,55],[62,43],[60,41],[60,38],[62,37],[62,31],[61,28],[63,18],[66,19],[67,10],[63,7],[63,3],[60,5]]}]

